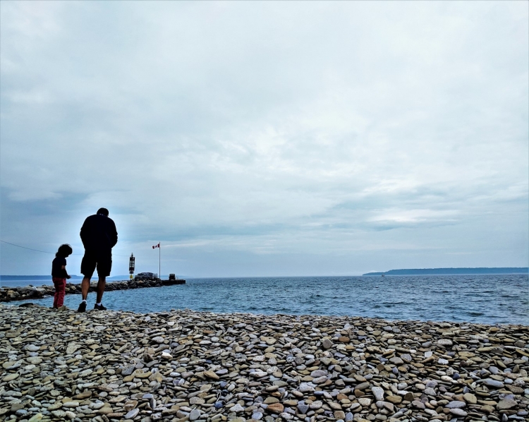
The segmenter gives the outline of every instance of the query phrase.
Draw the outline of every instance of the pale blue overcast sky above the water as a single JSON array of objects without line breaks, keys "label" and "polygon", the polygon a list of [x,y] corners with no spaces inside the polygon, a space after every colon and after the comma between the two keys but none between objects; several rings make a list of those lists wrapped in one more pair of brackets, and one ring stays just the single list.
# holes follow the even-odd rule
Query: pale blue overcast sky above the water
[{"label": "pale blue overcast sky above the water", "polygon": [[[529,263],[526,1],[0,1],[0,274]],[[159,251],[152,246],[161,243]]]}]

